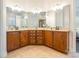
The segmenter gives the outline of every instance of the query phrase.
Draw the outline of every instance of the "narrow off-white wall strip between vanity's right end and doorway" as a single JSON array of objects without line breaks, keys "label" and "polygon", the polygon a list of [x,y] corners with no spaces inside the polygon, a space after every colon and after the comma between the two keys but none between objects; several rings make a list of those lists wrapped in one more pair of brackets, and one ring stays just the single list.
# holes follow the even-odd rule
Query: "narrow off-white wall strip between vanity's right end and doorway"
[{"label": "narrow off-white wall strip between vanity's right end and doorway", "polygon": [[[76,32],[75,32],[75,0],[70,5],[70,52],[76,53]],[[75,55],[74,55],[75,56]]]}]

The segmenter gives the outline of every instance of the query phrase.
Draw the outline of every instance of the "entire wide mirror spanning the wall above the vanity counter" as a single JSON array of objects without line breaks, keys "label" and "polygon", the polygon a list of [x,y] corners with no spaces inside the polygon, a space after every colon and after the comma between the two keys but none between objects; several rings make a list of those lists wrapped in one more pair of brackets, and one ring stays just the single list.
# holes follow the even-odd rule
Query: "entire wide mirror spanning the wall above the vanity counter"
[{"label": "entire wide mirror spanning the wall above the vanity counter", "polygon": [[70,6],[62,9],[41,11],[39,13],[12,10],[7,7],[7,27],[18,28],[69,28]]}]

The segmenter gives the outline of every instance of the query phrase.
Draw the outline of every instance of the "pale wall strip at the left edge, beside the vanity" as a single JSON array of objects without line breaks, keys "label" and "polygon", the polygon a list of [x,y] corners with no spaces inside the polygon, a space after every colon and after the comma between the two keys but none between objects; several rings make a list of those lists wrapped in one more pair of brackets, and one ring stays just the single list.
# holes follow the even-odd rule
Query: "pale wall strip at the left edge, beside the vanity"
[{"label": "pale wall strip at the left edge, beside the vanity", "polygon": [[4,0],[0,0],[0,58],[6,57],[6,9]]}]

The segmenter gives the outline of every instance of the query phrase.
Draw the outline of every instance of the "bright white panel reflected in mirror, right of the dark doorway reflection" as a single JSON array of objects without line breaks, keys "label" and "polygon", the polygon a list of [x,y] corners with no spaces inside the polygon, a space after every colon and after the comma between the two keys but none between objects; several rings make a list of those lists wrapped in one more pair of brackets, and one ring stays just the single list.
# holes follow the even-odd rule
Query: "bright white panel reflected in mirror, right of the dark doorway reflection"
[{"label": "bright white panel reflected in mirror, right of the dark doorway reflection", "polygon": [[46,26],[48,28],[55,27],[55,11],[46,12]]}]

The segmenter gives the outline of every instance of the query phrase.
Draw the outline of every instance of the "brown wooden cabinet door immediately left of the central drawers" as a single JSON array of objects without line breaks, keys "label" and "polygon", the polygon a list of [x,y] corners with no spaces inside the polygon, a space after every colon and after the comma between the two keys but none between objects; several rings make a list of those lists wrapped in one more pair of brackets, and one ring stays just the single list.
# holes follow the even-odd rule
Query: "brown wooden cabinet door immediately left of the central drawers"
[{"label": "brown wooden cabinet door immediately left of the central drawers", "polygon": [[28,45],[28,31],[21,31],[20,32],[20,45],[25,46]]}]

